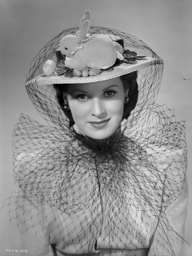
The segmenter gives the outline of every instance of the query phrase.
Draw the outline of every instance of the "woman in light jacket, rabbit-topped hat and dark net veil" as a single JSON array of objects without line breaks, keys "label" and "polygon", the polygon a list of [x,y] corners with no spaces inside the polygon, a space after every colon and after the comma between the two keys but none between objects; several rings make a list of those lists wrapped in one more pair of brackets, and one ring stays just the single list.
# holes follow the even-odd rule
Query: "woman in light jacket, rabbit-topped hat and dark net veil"
[{"label": "woman in light jacket, rabbit-topped hat and dark net veil", "polygon": [[[181,255],[185,125],[154,103],[163,62],[134,36],[90,28],[87,16],[31,65],[27,92],[49,125],[22,115],[14,130],[19,244],[28,255]],[[84,29],[85,41],[69,52],[61,37]],[[71,68],[97,34],[115,62]],[[93,44],[91,54],[98,49]]]}]

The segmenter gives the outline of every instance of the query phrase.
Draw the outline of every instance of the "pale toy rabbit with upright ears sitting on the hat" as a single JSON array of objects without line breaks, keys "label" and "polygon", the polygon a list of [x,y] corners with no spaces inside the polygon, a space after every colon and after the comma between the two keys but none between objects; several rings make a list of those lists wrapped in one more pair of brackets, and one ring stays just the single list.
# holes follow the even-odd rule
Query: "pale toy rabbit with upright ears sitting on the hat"
[{"label": "pale toy rabbit with upright ears sitting on the hat", "polygon": [[124,59],[107,36],[87,35],[90,28],[89,19],[90,11],[87,10],[81,19],[76,35],[66,35],[60,42],[60,51],[66,55],[66,67],[76,69],[76,71],[107,69],[115,64],[117,57],[120,60]]}]

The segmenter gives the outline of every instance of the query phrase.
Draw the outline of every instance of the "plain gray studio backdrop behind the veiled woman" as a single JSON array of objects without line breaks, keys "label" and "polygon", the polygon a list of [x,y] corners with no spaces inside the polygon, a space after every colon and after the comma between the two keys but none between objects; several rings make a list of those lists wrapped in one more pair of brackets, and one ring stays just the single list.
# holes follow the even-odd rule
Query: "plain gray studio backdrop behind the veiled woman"
[{"label": "plain gray studio backdrop behind the veiled woman", "polygon": [[[91,11],[91,24],[115,28],[144,40],[165,63],[164,77],[157,99],[175,109],[177,120],[186,121],[189,184],[191,175],[191,67],[192,1],[190,0],[0,0],[1,43],[1,143],[0,206],[15,191],[12,179],[11,132],[20,113],[44,123],[31,104],[24,88],[30,63],[40,49],[61,30],[78,26],[85,10]],[[192,188],[185,238],[192,243],[190,220]],[[1,219],[1,243],[5,236],[16,241],[8,229],[7,216]],[[14,244],[14,243],[13,243]],[[15,249],[15,248],[14,248]],[[185,245],[182,256],[192,255]]]}]

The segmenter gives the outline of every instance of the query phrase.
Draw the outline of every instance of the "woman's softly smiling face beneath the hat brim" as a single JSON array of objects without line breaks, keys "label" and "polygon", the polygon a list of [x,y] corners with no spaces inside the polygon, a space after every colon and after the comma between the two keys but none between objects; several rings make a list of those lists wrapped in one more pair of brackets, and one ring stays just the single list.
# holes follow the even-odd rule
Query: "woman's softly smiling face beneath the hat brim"
[{"label": "woman's softly smiling face beneath the hat brim", "polygon": [[119,77],[68,85],[64,98],[73,115],[74,129],[93,139],[110,137],[122,120],[127,93]]}]

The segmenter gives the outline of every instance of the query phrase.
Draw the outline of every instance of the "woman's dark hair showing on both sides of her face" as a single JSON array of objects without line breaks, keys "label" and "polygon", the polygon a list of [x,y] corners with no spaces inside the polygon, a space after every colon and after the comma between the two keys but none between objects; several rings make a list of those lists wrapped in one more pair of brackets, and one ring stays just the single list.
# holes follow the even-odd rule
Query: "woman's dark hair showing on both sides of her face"
[{"label": "woman's dark hair showing on both sides of her face", "polygon": [[[123,83],[124,91],[128,90],[128,102],[124,104],[124,111],[123,111],[123,119],[128,118],[131,111],[135,108],[138,99],[138,85],[137,85],[137,71],[132,72],[130,74],[120,76],[120,80]],[[65,113],[66,117],[69,118],[70,126],[74,125],[74,120],[72,113],[70,110],[64,109],[64,97],[63,93],[65,92],[66,85],[68,84],[54,84],[54,88],[56,89],[56,97],[61,109]]]}]

